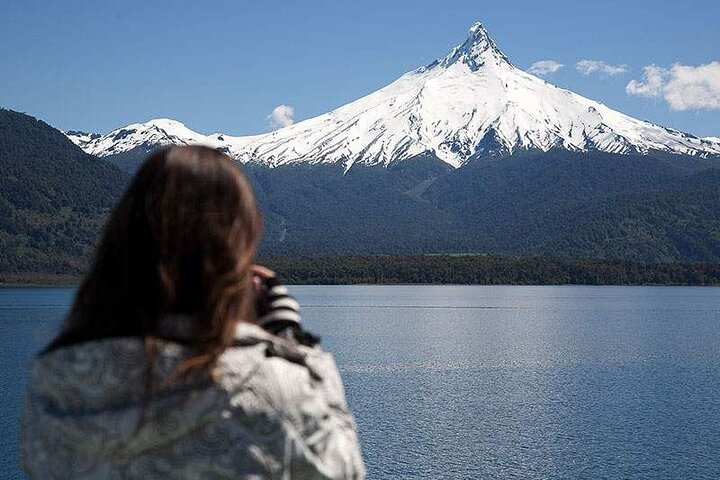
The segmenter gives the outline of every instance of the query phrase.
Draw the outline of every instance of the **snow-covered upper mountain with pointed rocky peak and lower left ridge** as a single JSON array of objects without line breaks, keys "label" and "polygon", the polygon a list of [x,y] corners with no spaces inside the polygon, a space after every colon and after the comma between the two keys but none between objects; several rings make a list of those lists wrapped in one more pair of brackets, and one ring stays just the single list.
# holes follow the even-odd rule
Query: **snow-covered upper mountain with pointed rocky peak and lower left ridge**
[{"label": "snow-covered upper mountain with pointed rocky peak and lower left ridge", "polygon": [[453,167],[518,150],[720,155],[720,141],[636,120],[513,66],[477,23],[445,58],[309,120],[249,137],[204,136],[172,120],[80,145],[108,156],[139,146],[206,144],[242,162],[388,165],[431,152]]}]

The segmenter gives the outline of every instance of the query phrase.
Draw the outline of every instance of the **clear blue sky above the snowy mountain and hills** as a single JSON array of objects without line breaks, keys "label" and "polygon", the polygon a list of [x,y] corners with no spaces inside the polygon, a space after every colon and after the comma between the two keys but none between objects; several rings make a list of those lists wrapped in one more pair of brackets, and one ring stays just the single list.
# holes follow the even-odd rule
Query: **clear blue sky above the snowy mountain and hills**
[{"label": "clear blue sky above the snowy mountain and hills", "polygon": [[[643,67],[660,67],[682,96],[683,79],[714,75],[718,19],[717,0],[4,0],[0,106],[62,129],[106,132],[170,117],[203,133],[261,133],[277,105],[292,106],[296,121],[331,110],[443,56],[481,21],[523,69],[554,60],[564,67],[545,78],[561,87],[638,118],[720,136],[720,106],[673,99],[670,88],[643,79]],[[581,60],[625,71],[583,75]],[[675,63],[710,66],[672,83]],[[631,80],[645,96],[626,92]]]}]

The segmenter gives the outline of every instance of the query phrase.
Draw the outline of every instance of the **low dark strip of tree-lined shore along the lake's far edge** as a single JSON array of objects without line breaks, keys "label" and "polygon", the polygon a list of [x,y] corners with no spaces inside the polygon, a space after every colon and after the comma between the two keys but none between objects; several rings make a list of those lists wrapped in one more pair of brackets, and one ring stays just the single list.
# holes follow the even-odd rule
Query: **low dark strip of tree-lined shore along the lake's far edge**
[{"label": "low dark strip of tree-lined shore along the lake's far edge", "polygon": [[[718,285],[720,264],[481,254],[263,256],[288,284]],[[0,274],[0,285],[76,285],[82,272]]]}]

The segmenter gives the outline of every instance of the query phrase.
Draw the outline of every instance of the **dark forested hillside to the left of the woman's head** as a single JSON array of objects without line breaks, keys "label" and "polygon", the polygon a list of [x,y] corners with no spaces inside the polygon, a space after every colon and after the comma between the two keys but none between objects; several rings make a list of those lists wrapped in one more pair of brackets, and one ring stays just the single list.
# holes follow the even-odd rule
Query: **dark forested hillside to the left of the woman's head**
[{"label": "dark forested hillside to the left of the woman's head", "polygon": [[0,272],[83,272],[126,182],[60,131],[0,109]]}]

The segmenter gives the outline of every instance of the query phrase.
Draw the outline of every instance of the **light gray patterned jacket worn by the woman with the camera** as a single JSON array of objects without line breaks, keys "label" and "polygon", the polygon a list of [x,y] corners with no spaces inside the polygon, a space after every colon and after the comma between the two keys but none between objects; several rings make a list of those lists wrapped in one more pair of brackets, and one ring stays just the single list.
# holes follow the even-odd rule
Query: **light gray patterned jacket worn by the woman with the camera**
[{"label": "light gray patterned jacket worn by the woman with the camera", "polygon": [[[364,478],[332,356],[248,323],[236,337],[243,346],[223,353],[214,380],[191,375],[155,393],[140,424],[141,340],[38,357],[21,420],[25,470],[33,478]],[[156,384],[185,349],[158,343]]]}]

